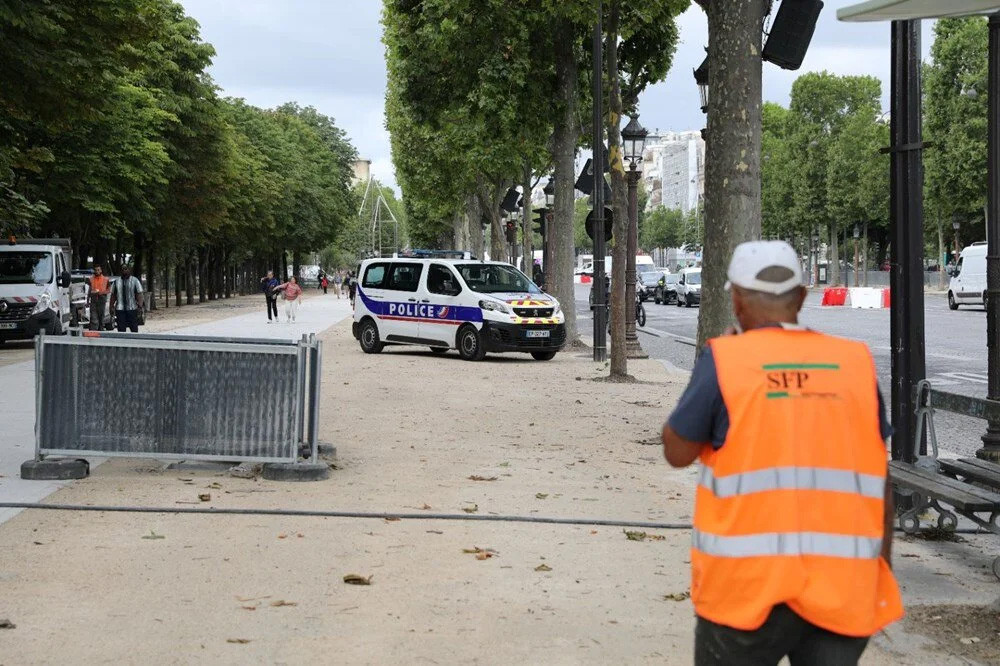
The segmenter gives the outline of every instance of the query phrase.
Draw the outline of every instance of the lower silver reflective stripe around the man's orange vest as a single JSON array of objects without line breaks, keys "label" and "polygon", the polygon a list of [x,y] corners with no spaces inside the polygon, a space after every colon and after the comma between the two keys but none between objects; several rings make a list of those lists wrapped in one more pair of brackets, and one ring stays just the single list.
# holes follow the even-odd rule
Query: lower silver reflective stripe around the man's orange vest
[{"label": "lower silver reflective stripe around the man's orange vest", "polygon": [[766,555],[827,555],[873,560],[882,550],[878,538],[822,532],[770,532],[745,536],[719,536],[694,530],[692,545],[715,557],[760,557]]}]

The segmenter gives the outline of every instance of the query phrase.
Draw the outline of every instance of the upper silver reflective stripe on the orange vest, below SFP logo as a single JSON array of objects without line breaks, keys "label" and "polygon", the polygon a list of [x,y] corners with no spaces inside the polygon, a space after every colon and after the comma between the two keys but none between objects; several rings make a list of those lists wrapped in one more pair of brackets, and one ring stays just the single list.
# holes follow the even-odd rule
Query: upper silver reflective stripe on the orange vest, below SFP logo
[{"label": "upper silver reflective stripe on the orange vest, below SFP logo", "polygon": [[716,497],[766,490],[830,490],[882,499],[885,493],[885,479],[880,476],[824,467],[771,467],[716,477],[711,467],[702,465],[698,482]]}]

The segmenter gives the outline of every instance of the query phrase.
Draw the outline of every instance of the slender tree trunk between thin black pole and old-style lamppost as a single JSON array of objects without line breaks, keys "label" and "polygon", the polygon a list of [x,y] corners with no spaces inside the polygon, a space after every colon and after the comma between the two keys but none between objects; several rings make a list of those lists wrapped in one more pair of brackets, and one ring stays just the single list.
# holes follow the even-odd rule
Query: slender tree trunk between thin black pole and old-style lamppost
[{"label": "slender tree trunk between thin black pole and old-style lamppost", "polygon": [[[625,262],[627,261],[628,183],[622,161],[621,79],[618,76],[619,2],[611,5],[604,55],[607,59],[611,95],[608,100],[608,163],[611,165],[611,208],[614,212],[614,246],[611,250],[611,376],[628,375],[628,350],[625,348]],[[633,306],[634,307],[634,306]]]}]

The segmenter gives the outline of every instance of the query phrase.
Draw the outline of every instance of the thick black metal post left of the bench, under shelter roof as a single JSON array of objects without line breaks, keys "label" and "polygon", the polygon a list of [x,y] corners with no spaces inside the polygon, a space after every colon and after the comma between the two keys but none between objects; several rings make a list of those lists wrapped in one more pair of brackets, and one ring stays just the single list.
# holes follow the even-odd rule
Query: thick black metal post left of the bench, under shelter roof
[{"label": "thick black metal post left of the bench, under shelter roof", "polygon": [[[916,414],[913,387],[925,377],[923,283],[923,161],[921,152],[920,21],[892,23],[892,239],[893,460],[912,462]],[[921,452],[924,445],[920,446]]]}]

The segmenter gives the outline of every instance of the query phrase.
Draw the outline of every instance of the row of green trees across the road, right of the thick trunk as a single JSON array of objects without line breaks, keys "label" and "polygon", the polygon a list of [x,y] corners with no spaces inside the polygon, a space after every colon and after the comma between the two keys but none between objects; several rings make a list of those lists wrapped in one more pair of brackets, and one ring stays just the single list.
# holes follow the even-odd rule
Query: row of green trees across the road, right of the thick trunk
[{"label": "row of green trees across the road, right of the thick trunk", "polygon": [[[985,238],[987,49],[985,18],[943,19],[924,66],[926,255],[947,261],[957,235]],[[838,239],[872,248],[869,265],[889,252],[888,114],[882,87],[867,76],[826,72],[799,77],[788,108],[763,107],[762,232],[803,253],[818,235],[840,279]]]}]

